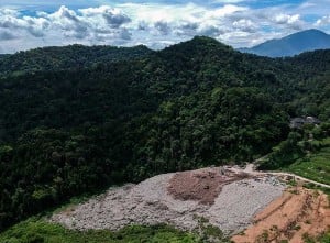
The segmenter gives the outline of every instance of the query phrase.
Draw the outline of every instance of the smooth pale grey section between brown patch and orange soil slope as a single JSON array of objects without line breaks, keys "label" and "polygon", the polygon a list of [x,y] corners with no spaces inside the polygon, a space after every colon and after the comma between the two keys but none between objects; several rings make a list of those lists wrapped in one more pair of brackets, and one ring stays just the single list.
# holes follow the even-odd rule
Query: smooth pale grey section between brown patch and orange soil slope
[{"label": "smooth pale grey section between brown patch and orange soil slope", "polygon": [[285,186],[275,177],[244,179],[223,187],[207,218],[223,231],[245,229],[255,213],[283,194]]}]

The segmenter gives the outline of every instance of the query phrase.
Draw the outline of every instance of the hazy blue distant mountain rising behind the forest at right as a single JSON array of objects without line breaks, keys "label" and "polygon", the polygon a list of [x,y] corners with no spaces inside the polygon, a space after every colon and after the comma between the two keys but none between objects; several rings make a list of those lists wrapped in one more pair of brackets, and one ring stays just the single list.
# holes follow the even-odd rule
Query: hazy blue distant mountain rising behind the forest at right
[{"label": "hazy blue distant mountain rising behind the forest at right", "polygon": [[271,40],[251,48],[240,48],[239,51],[260,56],[283,57],[327,48],[330,48],[330,35],[312,29],[297,32],[283,38]]}]

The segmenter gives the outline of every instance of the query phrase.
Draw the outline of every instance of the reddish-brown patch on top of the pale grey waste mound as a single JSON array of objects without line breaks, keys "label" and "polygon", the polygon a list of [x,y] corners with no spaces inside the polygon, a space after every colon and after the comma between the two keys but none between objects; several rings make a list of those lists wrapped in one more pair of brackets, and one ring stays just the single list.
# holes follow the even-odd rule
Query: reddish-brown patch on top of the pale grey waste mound
[{"label": "reddish-brown patch on top of the pale grey waste mound", "polygon": [[224,185],[244,178],[248,178],[248,174],[219,168],[183,172],[172,177],[167,191],[178,200],[197,200],[204,205],[212,205]]}]

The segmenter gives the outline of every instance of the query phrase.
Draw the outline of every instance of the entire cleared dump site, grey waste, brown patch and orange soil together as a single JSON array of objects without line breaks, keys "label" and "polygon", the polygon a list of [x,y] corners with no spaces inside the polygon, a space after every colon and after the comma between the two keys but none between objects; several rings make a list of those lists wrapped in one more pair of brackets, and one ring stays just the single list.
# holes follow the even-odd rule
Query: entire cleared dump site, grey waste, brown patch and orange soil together
[{"label": "entire cleared dump site, grey waste, brown patch and orange soil together", "polygon": [[261,238],[301,242],[304,235],[318,235],[330,227],[324,194],[289,187],[278,176],[248,167],[208,167],[111,187],[51,221],[82,231],[160,223],[194,231],[200,218],[242,243]]}]

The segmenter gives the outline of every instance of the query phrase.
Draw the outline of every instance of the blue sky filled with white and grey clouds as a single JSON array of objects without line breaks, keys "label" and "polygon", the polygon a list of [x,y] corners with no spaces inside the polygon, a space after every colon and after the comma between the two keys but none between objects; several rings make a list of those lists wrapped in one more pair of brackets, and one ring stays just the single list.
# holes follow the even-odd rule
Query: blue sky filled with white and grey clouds
[{"label": "blue sky filled with white and grey clouds", "polygon": [[318,29],[330,0],[0,0],[0,53],[43,46],[146,45],[206,35],[233,47]]}]

